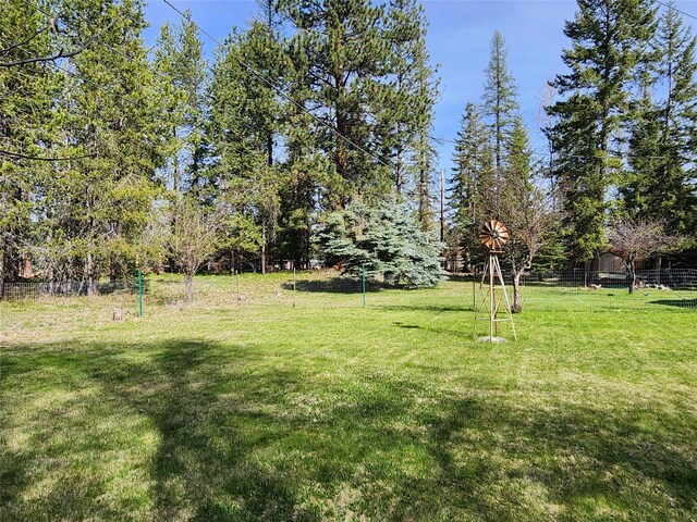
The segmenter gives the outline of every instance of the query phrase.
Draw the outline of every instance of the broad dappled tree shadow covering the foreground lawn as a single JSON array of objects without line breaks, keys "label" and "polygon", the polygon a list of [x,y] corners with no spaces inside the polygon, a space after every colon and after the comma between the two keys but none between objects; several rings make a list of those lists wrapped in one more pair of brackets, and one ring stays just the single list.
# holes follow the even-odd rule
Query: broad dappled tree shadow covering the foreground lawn
[{"label": "broad dappled tree shadow covering the foreground lawn", "polygon": [[[454,391],[428,375],[313,372],[311,356],[271,363],[270,347],[72,346],[19,348],[3,365],[2,520],[519,521],[602,509],[688,520],[697,509],[695,423],[661,405],[539,407],[496,384]],[[52,387],[65,399],[47,406]],[[139,482],[124,492],[123,476]]]}]

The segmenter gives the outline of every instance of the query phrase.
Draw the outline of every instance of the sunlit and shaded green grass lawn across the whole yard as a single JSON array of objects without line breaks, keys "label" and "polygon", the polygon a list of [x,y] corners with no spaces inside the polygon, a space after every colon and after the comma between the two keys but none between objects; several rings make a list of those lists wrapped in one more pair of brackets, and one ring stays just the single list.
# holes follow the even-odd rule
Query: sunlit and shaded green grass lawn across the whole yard
[{"label": "sunlit and shaded green grass lawn across the whole yard", "polygon": [[694,295],[148,283],[0,303],[0,520],[697,520]]}]

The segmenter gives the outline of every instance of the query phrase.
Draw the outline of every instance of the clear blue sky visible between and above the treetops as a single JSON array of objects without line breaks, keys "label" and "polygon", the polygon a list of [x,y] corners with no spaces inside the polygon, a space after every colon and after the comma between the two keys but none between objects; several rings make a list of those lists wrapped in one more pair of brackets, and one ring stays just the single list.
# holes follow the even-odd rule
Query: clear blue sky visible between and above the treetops
[{"label": "clear blue sky visible between and above the treetops", "polygon": [[[194,21],[216,39],[222,40],[233,26],[244,27],[257,13],[254,1],[171,0],[179,9],[189,9]],[[565,72],[561,60],[568,39],[564,21],[571,20],[576,2],[570,0],[467,1],[424,0],[429,22],[428,49],[431,61],[439,64],[441,98],[436,108],[433,135],[453,139],[467,101],[479,102],[484,70],[489,61],[489,45],[500,30],[509,47],[509,67],[518,85],[521,111],[530,130],[534,147],[543,149],[535,114],[540,90],[554,74]],[[697,14],[697,1],[676,2],[677,9]],[[146,41],[152,44],[159,26],[179,15],[164,2],[151,0],[146,8],[150,27]],[[686,23],[693,22],[685,18]],[[200,35],[208,53],[216,45]],[[440,165],[450,170],[452,144],[440,147]]]}]

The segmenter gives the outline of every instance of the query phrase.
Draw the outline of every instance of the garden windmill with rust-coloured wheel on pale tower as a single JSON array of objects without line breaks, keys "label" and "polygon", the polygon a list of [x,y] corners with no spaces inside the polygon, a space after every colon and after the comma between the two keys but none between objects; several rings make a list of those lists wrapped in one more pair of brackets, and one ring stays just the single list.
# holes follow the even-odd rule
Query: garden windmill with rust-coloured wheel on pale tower
[{"label": "garden windmill with rust-coloured wheel on pale tower", "polygon": [[[476,322],[479,319],[489,320],[489,336],[484,337],[482,340],[489,343],[497,343],[502,339],[497,337],[498,323],[510,321],[513,328],[513,338],[517,341],[517,335],[515,334],[515,325],[513,324],[513,314],[511,312],[511,301],[509,300],[509,294],[505,290],[505,283],[503,282],[503,274],[501,272],[501,264],[499,263],[499,254],[503,253],[503,246],[509,240],[509,231],[503,223],[497,220],[487,221],[481,226],[479,233],[479,243],[489,250],[489,259],[485,265],[481,274],[481,282],[479,283],[479,303],[475,307],[475,328]],[[487,286],[485,286],[485,279],[488,279]],[[489,314],[482,315],[481,311],[485,303],[489,306]],[[499,311],[503,310],[504,316],[499,316]]]}]

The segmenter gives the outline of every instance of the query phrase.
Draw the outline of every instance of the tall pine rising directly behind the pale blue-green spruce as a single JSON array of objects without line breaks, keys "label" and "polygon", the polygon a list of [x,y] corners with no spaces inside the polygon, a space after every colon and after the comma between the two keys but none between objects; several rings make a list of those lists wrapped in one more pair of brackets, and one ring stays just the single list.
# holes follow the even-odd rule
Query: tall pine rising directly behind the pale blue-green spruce
[{"label": "tall pine rising directly behind the pale blue-green spruce", "polygon": [[[389,55],[384,8],[369,0],[282,0],[281,12],[296,33],[294,55],[305,54],[304,80],[311,91],[317,146],[332,160],[321,199],[344,207],[355,194],[379,197],[391,188],[390,164],[378,161],[375,79]],[[321,123],[319,123],[321,122]]]}]

